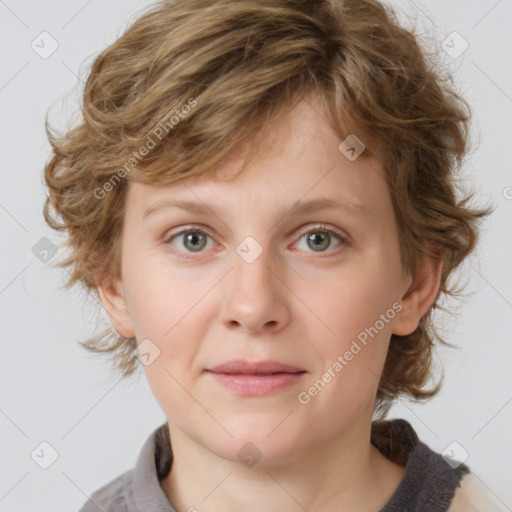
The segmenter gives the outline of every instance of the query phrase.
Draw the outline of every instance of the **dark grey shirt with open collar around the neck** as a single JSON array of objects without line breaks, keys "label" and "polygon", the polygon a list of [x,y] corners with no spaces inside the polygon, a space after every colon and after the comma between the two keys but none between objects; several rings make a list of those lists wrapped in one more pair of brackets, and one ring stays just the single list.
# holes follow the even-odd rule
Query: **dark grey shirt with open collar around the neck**
[{"label": "dark grey shirt with open collar around the neck", "polygon": [[[405,466],[395,493],[380,512],[445,512],[469,468],[452,468],[422,443],[406,420],[372,424],[371,442],[386,457]],[[145,442],[135,467],[107,483],[79,512],[176,512],[160,487],[171,470],[172,449],[167,423]]]}]

